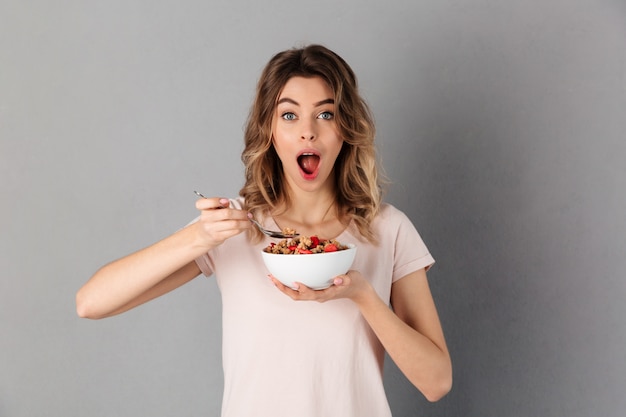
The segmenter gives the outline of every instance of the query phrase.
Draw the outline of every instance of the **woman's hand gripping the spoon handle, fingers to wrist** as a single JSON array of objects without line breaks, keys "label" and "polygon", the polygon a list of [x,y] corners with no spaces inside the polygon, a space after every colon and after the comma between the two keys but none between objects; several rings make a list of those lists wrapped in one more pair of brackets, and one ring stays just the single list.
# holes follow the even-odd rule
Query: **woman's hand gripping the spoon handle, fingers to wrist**
[{"label": "woman's hand gripping the spoon handle, fingers to wrist", "polygon": [[208,197],[196,201],[200,210],[197,222],[200,245],[207,249],[221,245],[226,239],[252,227],[245,210],[230,208],[227,198]]}]

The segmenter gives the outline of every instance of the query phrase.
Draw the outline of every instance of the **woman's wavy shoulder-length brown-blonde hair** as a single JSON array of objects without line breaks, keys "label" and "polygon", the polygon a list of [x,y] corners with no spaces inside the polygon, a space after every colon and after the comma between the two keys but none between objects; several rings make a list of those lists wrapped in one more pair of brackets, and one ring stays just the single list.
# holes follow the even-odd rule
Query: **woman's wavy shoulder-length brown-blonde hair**
[{"label": "woman's wavy shoulder-length brown-blonde hair", "polygon": [[[282,163],[272,143],[272,118],[278,97],[292,77],[320,77],[335,99],[335,121],[343,146],[335,162],[335,190],[339,213],[354,220],[359,233],[375,243],[370,227],[382,200],[375,127],[368,105],[359,94],[357,79],[339,55],[321,45],[289,49],[274,55],[257,84],[245,129],[245,184],[239,192],[253,214],[289,205]],[[261,238],[254,229],[254,239]]]}]

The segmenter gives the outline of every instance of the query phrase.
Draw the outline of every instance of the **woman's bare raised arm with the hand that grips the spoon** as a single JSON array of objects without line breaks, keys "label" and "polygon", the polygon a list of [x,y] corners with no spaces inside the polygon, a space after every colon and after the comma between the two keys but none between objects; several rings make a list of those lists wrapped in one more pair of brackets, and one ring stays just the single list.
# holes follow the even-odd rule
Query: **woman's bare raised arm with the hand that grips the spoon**
[{"label": "woman's bare raised arm with the hand that grips the spoon", "polygon": [[100,268],[76,294],[78,315],[119,314],[192,280],[200,273],[196,258],[250,227],[247,213],[224,208],[227,204],[218,198],[198,200],[196,223]]}]

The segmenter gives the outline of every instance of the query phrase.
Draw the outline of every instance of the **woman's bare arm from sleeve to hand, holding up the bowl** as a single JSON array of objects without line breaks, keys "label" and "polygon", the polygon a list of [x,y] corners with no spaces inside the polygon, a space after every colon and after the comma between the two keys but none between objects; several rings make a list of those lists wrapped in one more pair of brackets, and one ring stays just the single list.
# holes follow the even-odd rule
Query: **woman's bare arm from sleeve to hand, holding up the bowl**
[{"label": "woman's bare arm from sleeve to hand, holding up the bowl", "polygon": [[321,291],[304,285],[292,290],[274,278],[272,281],[294,300],[351,299],[391,359],[429,401],[450,391],[452,363],[424,269],[392,285],[393,311],[357,271],[335,278],[334,285]]}]

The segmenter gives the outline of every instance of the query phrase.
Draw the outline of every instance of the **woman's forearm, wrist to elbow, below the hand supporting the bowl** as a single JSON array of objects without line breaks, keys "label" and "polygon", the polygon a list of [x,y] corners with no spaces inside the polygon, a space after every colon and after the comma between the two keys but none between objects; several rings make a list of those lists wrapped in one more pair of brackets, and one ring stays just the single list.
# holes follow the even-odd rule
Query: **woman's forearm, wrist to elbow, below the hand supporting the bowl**
[{"label": "woman's forearm, wrist to elbow, below the hand supporting the bowl", "polygon": [[428,400],[450,390],[452,367],[445,346],[402,321],[371,287],[355,302],[390,358]]}]

